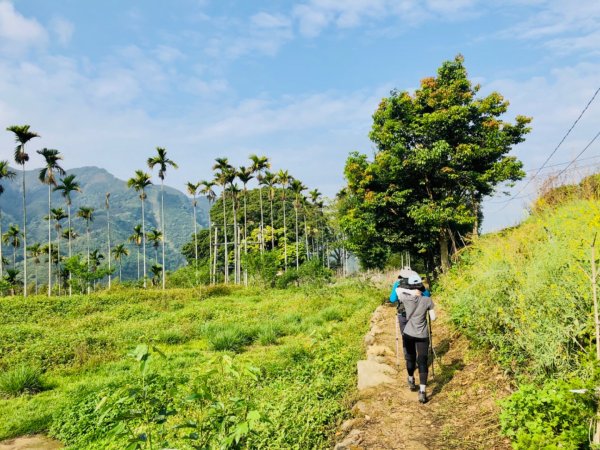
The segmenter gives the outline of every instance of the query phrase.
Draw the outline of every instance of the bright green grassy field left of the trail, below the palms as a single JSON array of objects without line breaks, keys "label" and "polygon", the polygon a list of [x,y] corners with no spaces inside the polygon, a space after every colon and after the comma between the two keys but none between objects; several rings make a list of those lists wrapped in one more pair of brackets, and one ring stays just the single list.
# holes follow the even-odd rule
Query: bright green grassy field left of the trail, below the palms
[{"label": "bright green grassy field left of the trail, below the palms", "polygon": [[[348,415],[381,298],[347,282],[0,299],[0,439],[326,448]],[[139,344],[148,347],[128,356]]]}]

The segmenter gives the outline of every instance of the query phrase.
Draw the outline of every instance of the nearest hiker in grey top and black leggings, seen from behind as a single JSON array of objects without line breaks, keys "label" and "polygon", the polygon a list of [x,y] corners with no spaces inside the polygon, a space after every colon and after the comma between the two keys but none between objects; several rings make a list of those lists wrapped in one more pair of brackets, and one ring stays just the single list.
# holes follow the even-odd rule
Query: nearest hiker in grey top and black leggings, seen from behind
[{"label": "nearest hiker in grey top and black leggings, seen from behind", "polygon": [[[430,320],[435,320],[434,304],[430,297],[425,296],[426,291],[423,280],[416,273],[402,273],[394,283],[395,296],[390,295],[392,303],[398,302],[398,320],[402,332],[402,348],[408,372],[408,387],[416,391],[415,369],[419,369],[419,402],[427,403],[427,377],[429,375],[429,330],[427,315]],[[407,275],[404,277],[403,275]],[[395,299],[394,299],[395,297]]]}]

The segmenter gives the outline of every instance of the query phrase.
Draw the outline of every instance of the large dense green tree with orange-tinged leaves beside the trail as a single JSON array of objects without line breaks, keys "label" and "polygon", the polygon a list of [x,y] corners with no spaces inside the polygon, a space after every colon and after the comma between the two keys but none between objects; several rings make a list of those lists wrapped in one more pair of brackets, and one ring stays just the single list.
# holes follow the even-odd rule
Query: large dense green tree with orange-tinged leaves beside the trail
[{"label": "large dense green tree with orange-tinged leaves beside the trail", "polygon": [[483,198],[525,175],[508,153],[531,118],[504,120],[508,101],[479,97],[463,62],[444,62],[412,94],[392,91],[373,114],[373,160],[348,158],[342,225],[367,267],[383,265],[390,251],[416,250],[430,260],[437,253],[446,270],[450,246],[477,234]]}]

